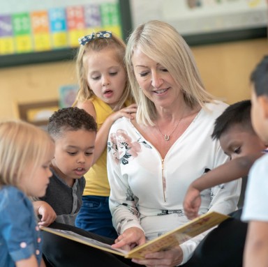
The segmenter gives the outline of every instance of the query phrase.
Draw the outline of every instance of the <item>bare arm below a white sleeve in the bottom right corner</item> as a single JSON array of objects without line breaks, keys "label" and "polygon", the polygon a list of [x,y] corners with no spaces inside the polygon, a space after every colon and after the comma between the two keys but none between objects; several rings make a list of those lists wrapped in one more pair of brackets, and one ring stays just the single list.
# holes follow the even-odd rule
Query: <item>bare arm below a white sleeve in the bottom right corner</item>
[{"label": "bare arm below a white sleeve in the bottom right corner", "polygon": [[251,221],[248,224],[244,250],[245,267],[268,266],[268,222]]}]

